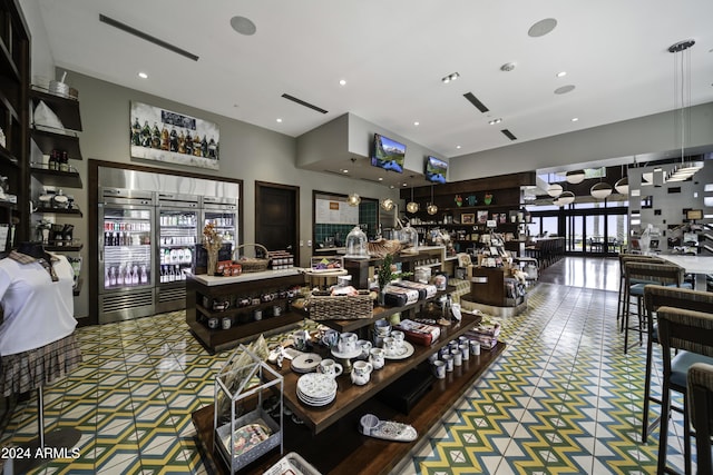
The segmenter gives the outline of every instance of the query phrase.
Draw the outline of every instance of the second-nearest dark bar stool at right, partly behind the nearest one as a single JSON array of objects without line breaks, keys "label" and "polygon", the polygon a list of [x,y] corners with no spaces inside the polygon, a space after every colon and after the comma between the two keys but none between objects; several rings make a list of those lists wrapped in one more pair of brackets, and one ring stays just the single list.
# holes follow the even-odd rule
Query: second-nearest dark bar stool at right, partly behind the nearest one
[{"label": "second-nearest dark bar stool at right, partly behind the nearest one", "polygon": [[[683,395],[683,459],[686,475],[691,474],[691,426],[687,404],[687,375],[694,363],[713,365],[713,314],[675,307],[658,307],[658,339],[663,348],[663,392],[661,429],[658,434],[658,473],[666,467],[671,392]],[[672,349],[678,350],[672,356]]]}]

